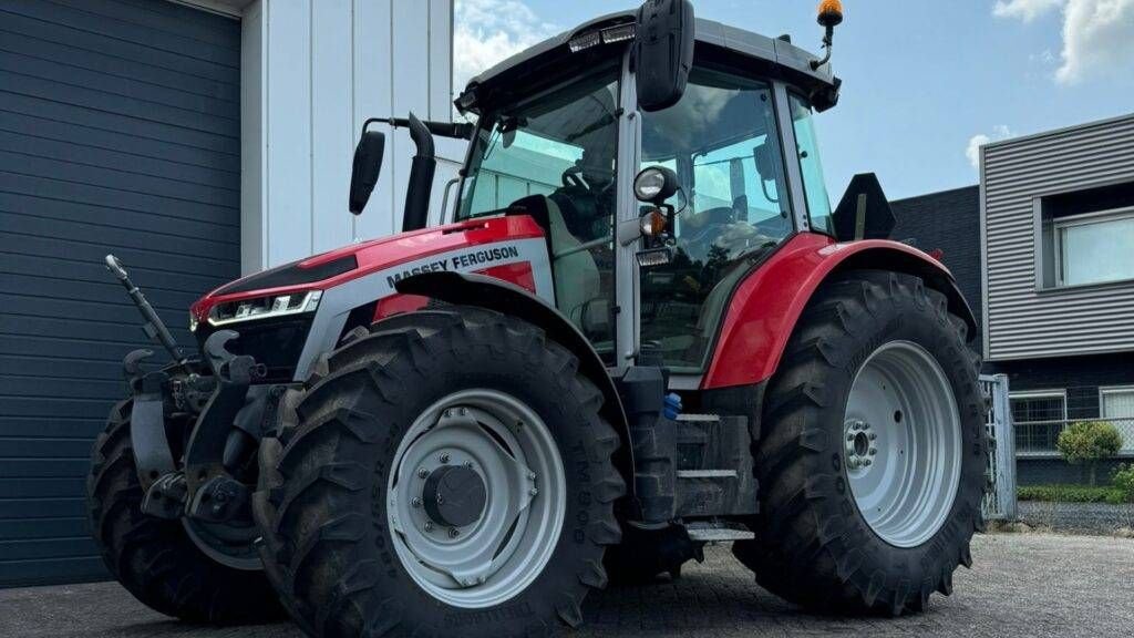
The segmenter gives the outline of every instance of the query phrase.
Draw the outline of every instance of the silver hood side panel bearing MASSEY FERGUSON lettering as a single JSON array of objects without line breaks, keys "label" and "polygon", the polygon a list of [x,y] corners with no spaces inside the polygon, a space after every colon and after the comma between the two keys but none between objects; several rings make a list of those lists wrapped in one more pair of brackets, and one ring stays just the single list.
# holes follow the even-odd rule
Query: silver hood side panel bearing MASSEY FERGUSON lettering
[{"label": "silver hood side panel bearing MASSEY FERGUSON lettering", "polygon": [[[505,254],[491,262],[463,261],[465,257],[476,257],[484,251],[500,250]],[[319,303],[315,319],[303,346],[298,364],[295,368],[296,381],[304,381],[311,375],[315,361],[324,352],[330,352],[338,345],[339,336],[346,326],[350,311],[374,300],[390,296],[396,291],[397,279],[421,271],[451,270],[455,272],[476,272],[494,266],[531,262],[532,275],[535,278],[535,294],[555,305],[555,287],[551,282],[551,267],[548,262],[548,244],[543,238],[517,240],[463,246],[449,252],[431,254],[422,259],[399,263],[347,282],[341,286],[329,288]],[[239,329],[239,326],[236,326]]]}]

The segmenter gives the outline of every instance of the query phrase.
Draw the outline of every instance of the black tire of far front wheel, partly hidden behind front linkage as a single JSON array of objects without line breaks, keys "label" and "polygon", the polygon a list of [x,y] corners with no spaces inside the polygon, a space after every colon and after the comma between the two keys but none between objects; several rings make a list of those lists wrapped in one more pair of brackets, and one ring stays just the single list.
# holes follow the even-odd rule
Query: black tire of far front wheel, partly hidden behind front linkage
[{"label": "black tire of far front wheel, partly hidden behind front linkage", "polygon": [[193,542],[180,520],[142,513],[130,406],[129,400],[115,405],[91,453],[87,512],[107,569],[146,606],[185,621],[245,624],[284,618],[263,571],[226,566]]}]

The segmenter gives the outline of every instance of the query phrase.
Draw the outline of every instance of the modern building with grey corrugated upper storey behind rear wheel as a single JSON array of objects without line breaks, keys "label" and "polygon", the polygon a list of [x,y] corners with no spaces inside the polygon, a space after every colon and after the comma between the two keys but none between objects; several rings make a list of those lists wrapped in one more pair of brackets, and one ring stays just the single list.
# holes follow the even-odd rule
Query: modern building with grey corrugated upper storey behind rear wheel
[{"label": "modern building with grey corrugated upper storey behind rear wheel", "polygon": [[1123,434],[1103,470],[1134,460],[1134,115],[990,144],[979,187],[895,211],[896,237],[954,246],[985,371],[1009,378],[1019,481],[1083,480],[1056,450],[1075,421]]}]

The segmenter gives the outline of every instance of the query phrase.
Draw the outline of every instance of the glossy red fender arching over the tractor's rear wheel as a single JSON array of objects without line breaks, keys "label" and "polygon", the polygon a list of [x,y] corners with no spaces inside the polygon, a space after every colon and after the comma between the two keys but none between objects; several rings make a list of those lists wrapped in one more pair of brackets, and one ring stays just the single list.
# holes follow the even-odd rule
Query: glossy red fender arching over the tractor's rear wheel
[{"label": "glossy red fender arching over the tractor's rear wheel", "polygon": [[751,385],[776,372],[784,349],[812,295],[835,272],[894,270],[916,275],[949,300],[970,334],[976,320],[949,270],[924,252],[889,240],[837,243],[802,233],[741,283],[729,302],[703,389]]}]

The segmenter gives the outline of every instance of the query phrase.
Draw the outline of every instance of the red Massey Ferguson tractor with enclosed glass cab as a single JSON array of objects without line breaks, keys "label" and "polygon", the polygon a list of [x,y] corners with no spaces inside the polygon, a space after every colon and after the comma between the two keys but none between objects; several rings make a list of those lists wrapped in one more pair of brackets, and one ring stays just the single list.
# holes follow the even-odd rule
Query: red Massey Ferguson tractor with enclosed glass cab
[{"label": "red Massey Ferguson tractor with enclosed glass cab", "polygon": [[[975,324],[872,176],[828,202],[840,20],[816,59],[650,0],[474,78],[475,125],[381,120],[417,144],[404,232],[209,293],[200,358],[108,257],[174,355],[127,358],[95,444],[115,577],[315,637],[543,636],[713,542],[823,612],[949,594],[982,522]],[[433,135],[469,149],[426,227]]]}]

